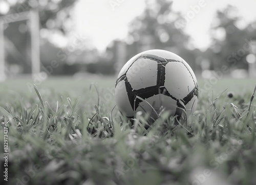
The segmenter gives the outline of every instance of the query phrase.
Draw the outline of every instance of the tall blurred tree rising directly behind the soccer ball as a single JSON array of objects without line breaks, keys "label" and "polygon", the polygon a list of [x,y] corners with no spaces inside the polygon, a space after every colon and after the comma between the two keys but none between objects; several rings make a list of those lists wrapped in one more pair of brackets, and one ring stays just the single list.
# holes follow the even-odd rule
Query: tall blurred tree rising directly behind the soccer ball
[{"label": "tall blurred tree rising directly behind the soccer ball", "polygon": [[[165,49],[180,55],[195,69],[198,52],[188,48],[189,36],[181,28],[177,28],[176,22],[183,18],[181,13],[173,11],[172,4],[173,1],[170,0],[146,1],[144,12],[129,26],[129,34],[125,40],[125,61],[144,50]],[[114,60],[116,63],[120,62],[116,56]]]}]

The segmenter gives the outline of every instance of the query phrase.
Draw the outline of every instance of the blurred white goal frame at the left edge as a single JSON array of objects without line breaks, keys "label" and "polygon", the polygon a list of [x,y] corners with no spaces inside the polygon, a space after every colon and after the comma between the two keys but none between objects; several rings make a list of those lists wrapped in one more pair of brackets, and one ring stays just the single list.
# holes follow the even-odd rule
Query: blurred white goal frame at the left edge
[{"label": "blurred white goal frame at the left edge", "polygon": [[39,15],[37,10],[8,14],[0,17],[0,82],[5,81],[5,36],[4,24],[17,22],[22,20],[30,20],[31,33],[31,66],[32,76],[40,73],[40,28]]}]

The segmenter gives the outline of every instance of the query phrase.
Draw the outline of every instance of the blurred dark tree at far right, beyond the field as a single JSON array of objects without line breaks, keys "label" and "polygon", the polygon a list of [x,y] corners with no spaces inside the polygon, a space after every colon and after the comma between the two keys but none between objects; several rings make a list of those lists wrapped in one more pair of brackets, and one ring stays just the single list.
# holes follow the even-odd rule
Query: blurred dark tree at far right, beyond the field
[{"label": "blurred dark tree at far right, beyond the field", "polygon": [[230,69],[248,68],[246,56],[250,52],[249,41],[253,35],[255,37],[255,29],[251,25],[244,26],[244,20],[237,16],[237,11],[236,7],[227,6],[217,12],[211,28],[213,42],[206,52],[212,69],[220,69],[223,65]]}]

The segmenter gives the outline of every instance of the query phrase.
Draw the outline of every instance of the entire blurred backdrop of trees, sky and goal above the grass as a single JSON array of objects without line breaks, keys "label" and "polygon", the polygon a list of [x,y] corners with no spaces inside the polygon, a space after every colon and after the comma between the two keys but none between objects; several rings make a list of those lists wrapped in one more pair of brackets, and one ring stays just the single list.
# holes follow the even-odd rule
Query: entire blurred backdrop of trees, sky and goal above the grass
[{"label": "entire blurred backdrop of trees, sky and goal above the grass", "polygon": [[175,52],[198,77],[255,77],[255,7],[250,0],[0,0],[0,80],[116,76],[147,49]]}]

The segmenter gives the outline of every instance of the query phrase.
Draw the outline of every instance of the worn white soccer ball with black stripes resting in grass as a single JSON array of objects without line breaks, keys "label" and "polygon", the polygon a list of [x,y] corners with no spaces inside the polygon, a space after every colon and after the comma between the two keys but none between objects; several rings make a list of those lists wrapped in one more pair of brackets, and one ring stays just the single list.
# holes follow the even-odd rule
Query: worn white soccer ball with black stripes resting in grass
[{"label": "worn white soccer ball with black stripes resting in grass", "polygon": [[141,111],[156,120],[161,111],[179,120],[193,114],[198,102],[198,83],[190,66],[166,50],[141,52],[120,70],[115,100],[121,114],[134,118]]}]

